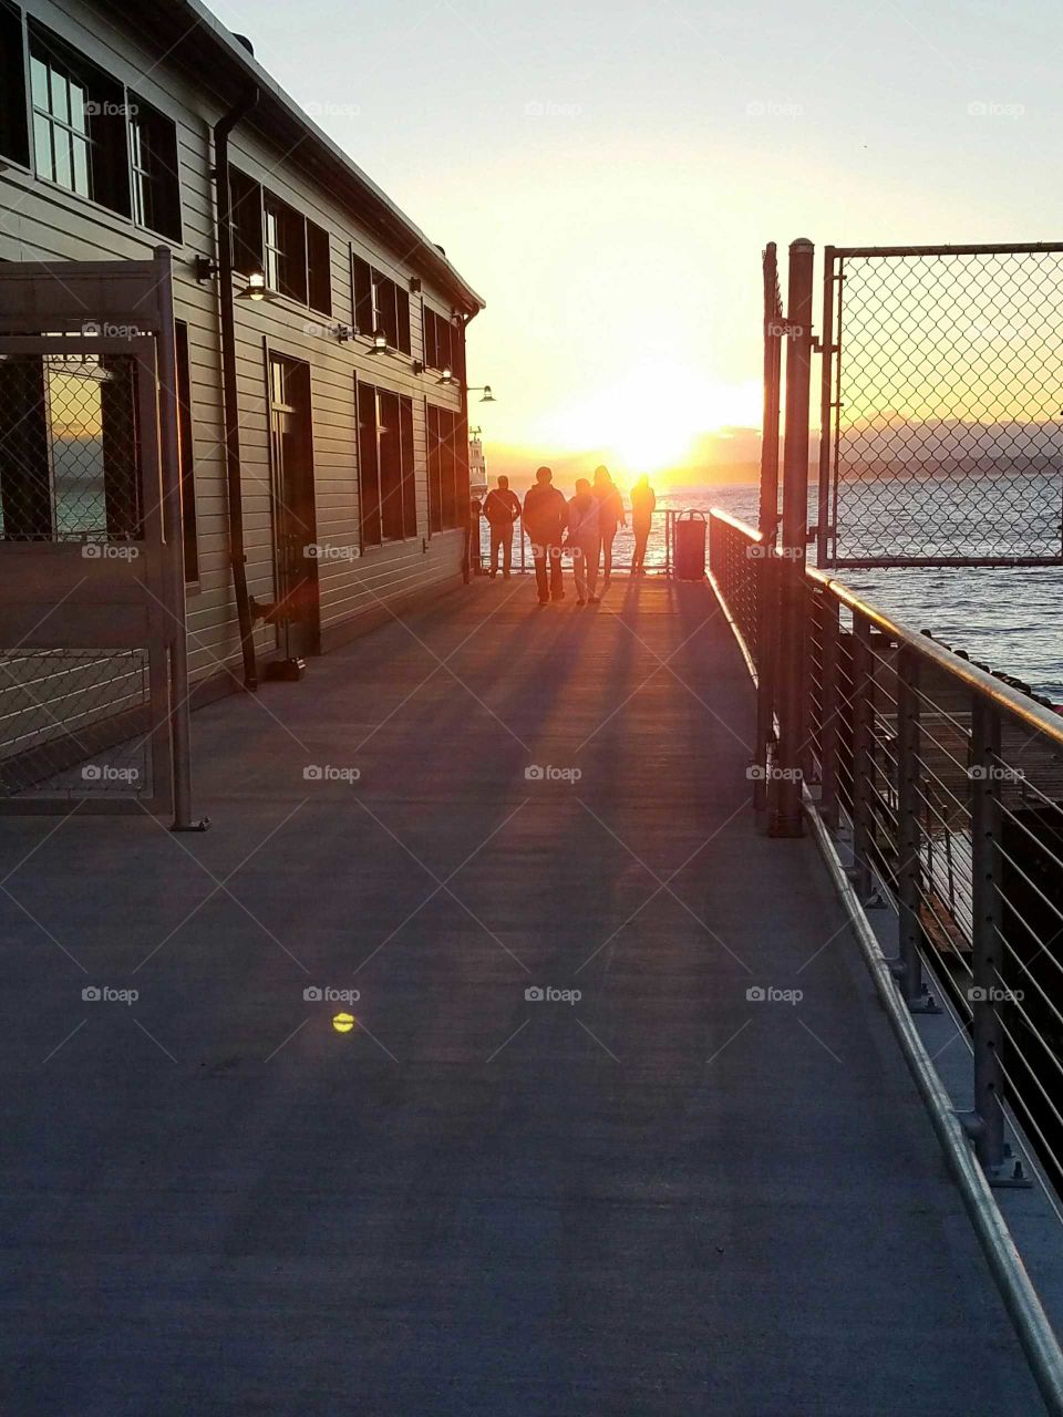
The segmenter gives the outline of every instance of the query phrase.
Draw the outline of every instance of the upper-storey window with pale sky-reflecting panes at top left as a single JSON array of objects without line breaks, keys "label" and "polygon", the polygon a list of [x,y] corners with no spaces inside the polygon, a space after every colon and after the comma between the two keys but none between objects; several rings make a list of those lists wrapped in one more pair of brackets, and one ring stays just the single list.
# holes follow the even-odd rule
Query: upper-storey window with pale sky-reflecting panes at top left
[{"label": "upper-storey window with pale sky-reflecting panes at top left", "polygon": [[122,85],[34,26],[30,88],[37,176],[130,215]]}]

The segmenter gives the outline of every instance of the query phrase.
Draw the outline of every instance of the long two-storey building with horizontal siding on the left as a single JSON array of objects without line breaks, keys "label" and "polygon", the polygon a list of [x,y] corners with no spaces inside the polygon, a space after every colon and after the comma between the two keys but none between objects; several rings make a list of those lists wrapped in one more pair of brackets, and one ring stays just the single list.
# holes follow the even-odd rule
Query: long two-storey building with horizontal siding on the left
[{"label": "long two-storey building with horizontal siding on the left", "polygon": [[[173,251],[197,697],[461,584],[483,302],[442,249],[198,0],[0,0],[0,258]],[[17,540],[64,493],[27,499],[3,394]]]}]

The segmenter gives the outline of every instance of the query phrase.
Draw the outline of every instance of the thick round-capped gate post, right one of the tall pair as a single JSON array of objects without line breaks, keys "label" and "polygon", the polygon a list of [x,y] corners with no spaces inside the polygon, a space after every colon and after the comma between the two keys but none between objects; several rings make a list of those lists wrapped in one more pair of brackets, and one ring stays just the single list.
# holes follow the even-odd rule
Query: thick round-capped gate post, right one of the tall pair
[{"label": "thick round-capped gate post, right one of the tall pair", "polygon": [[778,781],[772,836],[801,836],[801,745],[805,724],[808,666],[805,645],[808,543],[808,415],[812,356],[812,265],[815,248],[804,238],[791,242],[787,286],[787,427],[782,441],[782,557],[778,657]]}]

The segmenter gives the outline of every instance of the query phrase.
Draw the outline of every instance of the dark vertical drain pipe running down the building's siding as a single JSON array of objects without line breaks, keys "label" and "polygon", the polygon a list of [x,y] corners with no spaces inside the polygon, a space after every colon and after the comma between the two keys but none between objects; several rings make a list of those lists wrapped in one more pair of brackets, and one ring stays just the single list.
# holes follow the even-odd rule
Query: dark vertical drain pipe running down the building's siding
[{"label": "dark vertical drain pipe running down the building's siding", "polygon": [[240,461],[240,402],[237,385],[237,324],[232,305],[232,211],[228,183],[228,135],[258,103],[252,88],[214,125],[214,183],[218,194],[218,298],[221,302],[221,387],[225,405],[225,485],[228,493],[228,547],[232,567],[232,592],[240,622],[240,648],[244,656],[244,687],[258,689],[258,666],[252,639],[251,599],[247,592],[247,551],[244,548],[244,490]]}]

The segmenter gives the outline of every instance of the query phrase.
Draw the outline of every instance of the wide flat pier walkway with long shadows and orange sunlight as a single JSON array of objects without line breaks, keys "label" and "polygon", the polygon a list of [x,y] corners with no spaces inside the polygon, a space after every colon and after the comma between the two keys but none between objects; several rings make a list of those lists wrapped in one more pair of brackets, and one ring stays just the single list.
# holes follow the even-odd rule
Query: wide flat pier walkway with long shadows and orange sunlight
[{"label": "wide flat pier walkway with long shadows and orange sunlight", "polygon": [[0,820],[18,1410],[1036,1411],[753,717],[707,587],[480,581],[196,714],[207,835]]}]

